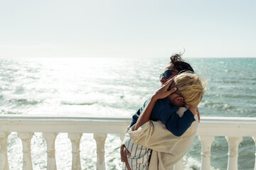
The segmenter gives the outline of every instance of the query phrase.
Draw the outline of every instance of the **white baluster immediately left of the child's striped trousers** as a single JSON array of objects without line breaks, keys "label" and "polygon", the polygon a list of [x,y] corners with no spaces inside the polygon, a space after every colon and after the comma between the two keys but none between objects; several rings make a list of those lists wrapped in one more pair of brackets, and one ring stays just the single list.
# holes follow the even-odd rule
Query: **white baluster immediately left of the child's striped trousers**
[{"label": "white baluster immediately left of the child's striped trousers", "polygon": [[107,134],[95,133],[93,138],[97,144],[97,170],[105,170],[105,140]]}]

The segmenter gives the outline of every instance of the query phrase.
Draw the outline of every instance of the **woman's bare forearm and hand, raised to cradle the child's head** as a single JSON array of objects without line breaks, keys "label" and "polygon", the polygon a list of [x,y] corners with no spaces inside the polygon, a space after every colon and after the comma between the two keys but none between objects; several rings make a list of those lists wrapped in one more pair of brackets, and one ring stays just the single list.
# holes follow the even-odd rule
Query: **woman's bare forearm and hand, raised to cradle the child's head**
[{"label": "woman's bare forearm and hand, raised to cradle the child's head", "polygon": [[169,81],[166,81],[166,83],[161,86],[154,94],[153,96],[151,96],[151,98],[149,99],[149,103],[146,104],[145,108],[143,109],[142,113],[139,115],[139,118],[137,120],[137,123],[134,125],[134,129],[133,130],[137,130],[140,126],[142,126],[144,123],[146,123],[147,121],[149,121],[151,112],[154,108],[154,105],[156,103],[156,101],[160,98],[166,98],[167,96],[169,96],[170,94],[174,93],[174,91],[177,90],[176,87],[172,88],[171,90],[169,89],[169,86],[171,85],[172,81],[174,81],[173,77],[172,79],[170,79]]}]

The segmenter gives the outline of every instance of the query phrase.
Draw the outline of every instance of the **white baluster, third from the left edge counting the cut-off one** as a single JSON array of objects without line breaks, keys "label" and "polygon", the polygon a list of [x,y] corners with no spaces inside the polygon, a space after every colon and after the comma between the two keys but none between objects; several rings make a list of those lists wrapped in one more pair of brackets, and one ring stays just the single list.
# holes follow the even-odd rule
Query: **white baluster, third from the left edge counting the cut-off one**
[{"label": "white baluster, third from the left edge counting the cut-off one", "polygon": [[58,133],[43,132],[43,138],[46,139],[47,145],[47,169],[57,170],[55,159],[55,139]]}]

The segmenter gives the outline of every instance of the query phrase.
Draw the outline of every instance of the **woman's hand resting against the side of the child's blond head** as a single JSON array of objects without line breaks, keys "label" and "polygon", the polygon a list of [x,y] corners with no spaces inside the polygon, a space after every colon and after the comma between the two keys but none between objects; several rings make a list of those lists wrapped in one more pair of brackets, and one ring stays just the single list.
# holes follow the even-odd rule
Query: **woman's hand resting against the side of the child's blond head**
[{"label": "woman's hand resting against the side of the child's blond head", "polygon": [[163,84],[151,97],[152,100],[157,101],[161,98],[166,98],[170,94],[174,93],[174,91],[177,90],[176,87],[169,90],[169,87],[171,86],[171,83],[174,81],[174,78],[169,79],[169,81],[166,81],[165,84]]}]

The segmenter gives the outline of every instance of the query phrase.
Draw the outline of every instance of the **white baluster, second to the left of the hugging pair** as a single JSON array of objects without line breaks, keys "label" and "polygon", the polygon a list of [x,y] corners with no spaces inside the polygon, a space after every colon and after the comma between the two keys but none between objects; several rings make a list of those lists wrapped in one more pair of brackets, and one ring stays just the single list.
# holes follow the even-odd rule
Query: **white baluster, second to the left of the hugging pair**
[{"label": "white baluster, second to the left of the hugging pair", "polygon": [[82,133],[68,133],[72,143],[72,170],[80,170],[80,140]]}]

